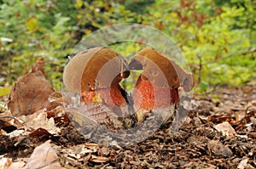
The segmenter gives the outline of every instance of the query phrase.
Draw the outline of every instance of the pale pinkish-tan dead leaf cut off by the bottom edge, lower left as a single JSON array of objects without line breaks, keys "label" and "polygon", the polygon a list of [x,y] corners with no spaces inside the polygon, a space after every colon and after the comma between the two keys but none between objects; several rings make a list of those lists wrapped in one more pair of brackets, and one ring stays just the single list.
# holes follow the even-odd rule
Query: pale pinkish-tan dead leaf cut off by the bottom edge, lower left
[{"label": "pale pinkish-tan dead leaf cut off by the bottom edge, lower left", "polygon": [[26,166],[23,167],[24,169],[64,169],[64,167],[59,164],[58,156],[49,142],[50,141],[46,141],[44,144],[41,144],[34,149],[30,159],[26,163]]}]

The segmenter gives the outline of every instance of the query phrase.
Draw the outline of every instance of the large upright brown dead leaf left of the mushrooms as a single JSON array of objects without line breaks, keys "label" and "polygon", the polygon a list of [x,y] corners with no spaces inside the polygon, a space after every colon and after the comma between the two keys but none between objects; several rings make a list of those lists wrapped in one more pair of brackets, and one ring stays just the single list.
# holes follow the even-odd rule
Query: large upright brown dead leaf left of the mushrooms
[{"label": "large upright brown dead leaf left of the mushrooms", "polygon": [[9,93],[9,110],[13,115],[31,115],[50,106],[49,95],[55,90],[41,71],[21,76]]}]

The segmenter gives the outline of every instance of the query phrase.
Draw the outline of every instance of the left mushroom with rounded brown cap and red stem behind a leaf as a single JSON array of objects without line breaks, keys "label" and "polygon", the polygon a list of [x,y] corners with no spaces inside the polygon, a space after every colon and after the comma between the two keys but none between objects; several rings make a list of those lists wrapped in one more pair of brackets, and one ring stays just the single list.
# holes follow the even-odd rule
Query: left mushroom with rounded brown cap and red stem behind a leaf
[{"label": "left mushroom with rounded brown cap and red stem behind a leaf", "polygon": [[124,57],[112,48],[90,48],[76,54],[63,73],[65,86],[80,93],[84,104],[102,102],[110,109],[125,106],[125,90],[119,82],[130,75]]}]

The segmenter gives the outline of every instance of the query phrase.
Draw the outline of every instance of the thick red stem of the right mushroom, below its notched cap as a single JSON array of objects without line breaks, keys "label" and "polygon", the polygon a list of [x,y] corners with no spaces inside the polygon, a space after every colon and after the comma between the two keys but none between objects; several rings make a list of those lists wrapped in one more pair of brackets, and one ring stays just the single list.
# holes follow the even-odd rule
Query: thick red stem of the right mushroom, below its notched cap
[{"label": "thick red stem of the right mushroom, below its notched cap", "polygon": [[152,110],[166,108],[178,103],[177,88],[154,87],[147,78],[140,76],[132,94],[134,107],[137,110]]}]

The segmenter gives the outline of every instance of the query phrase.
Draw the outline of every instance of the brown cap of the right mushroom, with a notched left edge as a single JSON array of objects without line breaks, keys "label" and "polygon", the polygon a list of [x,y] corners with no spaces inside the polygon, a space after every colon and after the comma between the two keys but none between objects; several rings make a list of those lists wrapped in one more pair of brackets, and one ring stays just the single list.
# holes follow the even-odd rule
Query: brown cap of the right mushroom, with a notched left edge
[{"label": "brown cap of the right mushroom, with a notched left edge", "polygon": [[153,48],[144,48],[131,58],[131,70],[143,70],[143,76],[159,87],[177,88],[189,91],[194,86],[191,73],[183,70],[172,59]]}]

